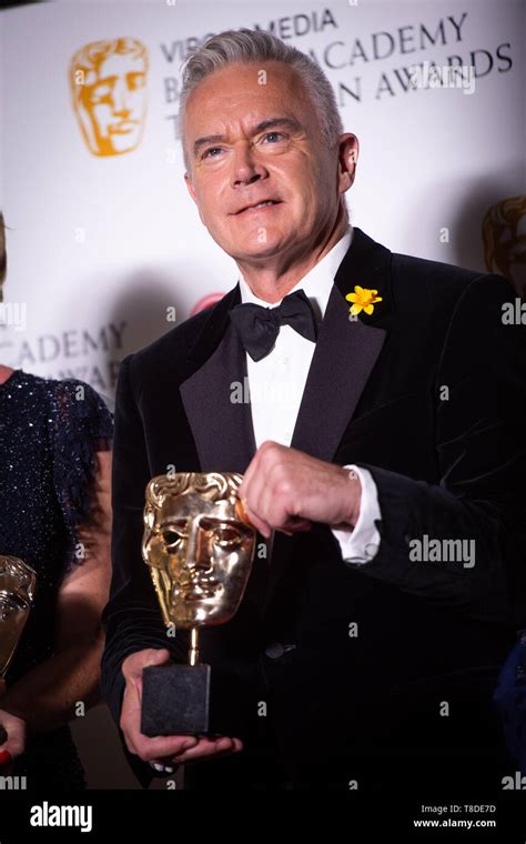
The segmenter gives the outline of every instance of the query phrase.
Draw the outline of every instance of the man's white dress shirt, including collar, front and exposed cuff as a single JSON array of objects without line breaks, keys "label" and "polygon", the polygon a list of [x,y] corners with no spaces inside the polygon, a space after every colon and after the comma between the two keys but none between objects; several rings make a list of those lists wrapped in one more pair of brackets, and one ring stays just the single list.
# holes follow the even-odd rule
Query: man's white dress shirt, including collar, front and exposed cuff
[{"label": "man's white dress shirt, including collar, front and exposed cuff", "polygon": [[[330,252],[303,277],[289,293],[304,290],[316,318],[322,320],[334,283],[334,277],[353,238],[350,227]],[[240,277],[241,301],[253,302],[263,308],[277,308],[280,302],[265,302],[250,289]],[[282,300],[280,300],[282,301]],[[273,349],[265,358],[253,361],[246,353],[249,390],[252,408],[252,424],[256,448],[265,440],[290,445],[305,382],[314,354],[315,343],[294,331],[291,325],[281,325]],[[375,520],[381,519],[378,493],[371,472],[353,464],[362,486],[360,516],[354,530],[333,530],[340,543],[342,557],[355,565],[372,560],[380,546],[380,533]]]}]

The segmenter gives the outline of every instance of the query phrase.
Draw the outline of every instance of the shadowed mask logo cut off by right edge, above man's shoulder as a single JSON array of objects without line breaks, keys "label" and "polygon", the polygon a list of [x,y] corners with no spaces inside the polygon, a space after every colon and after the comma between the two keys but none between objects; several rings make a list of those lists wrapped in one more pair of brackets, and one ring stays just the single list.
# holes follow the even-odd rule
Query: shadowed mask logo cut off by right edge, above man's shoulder
[{"label": "shadowed mask logo cut off by right edge, above man's shoulder", "polygon": [[526,197],[492,205],[483,221],[483,239],[488,271],[504,275],[526,301]]}]

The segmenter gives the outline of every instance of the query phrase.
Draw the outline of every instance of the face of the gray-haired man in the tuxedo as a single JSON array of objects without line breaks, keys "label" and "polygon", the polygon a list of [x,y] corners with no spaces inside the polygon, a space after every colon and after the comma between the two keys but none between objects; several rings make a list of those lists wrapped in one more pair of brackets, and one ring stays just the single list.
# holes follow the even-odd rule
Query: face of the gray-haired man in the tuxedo
[{"label": "face of the gray-haired man in the tuxedo", "polygon": [[[201,82],[186,102],[184,144],[201,220],[235,260],[292,261],[315,247],[352,182],[338,173],[337,148],[324,145],[301,80],[281,62],[235,63]],[[263,200],[273,204],[253,208]]]}]

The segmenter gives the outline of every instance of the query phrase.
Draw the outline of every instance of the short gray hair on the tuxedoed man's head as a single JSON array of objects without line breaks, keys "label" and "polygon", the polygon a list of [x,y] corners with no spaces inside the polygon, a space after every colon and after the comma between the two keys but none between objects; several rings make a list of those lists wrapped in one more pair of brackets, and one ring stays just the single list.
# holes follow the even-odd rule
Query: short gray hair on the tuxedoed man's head
[{"label": "short gray hair on the tuxedoed man's head", "polygon": [[257,64],[264,61],[281,61],[293,68],[311,98],[317,112],[322,138],[328,148],[335,147],[343,132],[342,118],[331,82],[316,62],[295,47],[285,44],[271,32],[254,29],[226,30],[212,36],[182,67],[183,84],[180,99],[180,131],[183,144],[184,164],[189,169],[188,152],[184,148],[184,109],[192,91],[206,77],[233,62]]}]

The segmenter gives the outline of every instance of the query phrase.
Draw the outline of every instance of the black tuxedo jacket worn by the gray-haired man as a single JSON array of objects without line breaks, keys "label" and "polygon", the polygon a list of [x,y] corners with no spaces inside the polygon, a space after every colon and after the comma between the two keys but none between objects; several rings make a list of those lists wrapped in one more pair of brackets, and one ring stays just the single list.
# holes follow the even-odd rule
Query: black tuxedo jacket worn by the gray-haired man
[{"label": "black tuxedo jacket worn by the gray-haired man", "polygon": [[[383,301],[350,321],[355,284]],[[526,353],[520,326],[502,321],[514,299],[499,277],[393,254],[354,230],[291,445],[372,472],[381,546],[348,566],[326,525],[277,533],[236,616],[203,631],[245,754],[272,741],[285,760],[312,757],[313,734],[324,758],[494,741],[492,684],[526,621]],[[246,376],[229,319],[239,302],[236,285],[121,366],[102,664],[117,721],[128,654],[169,646],[186,659],[141,559],[148,481],[171,465],[244,472],[255,451],[250,404],[230,400]],[[411,560],[425,535],[474,540],[475,564]]]}]

